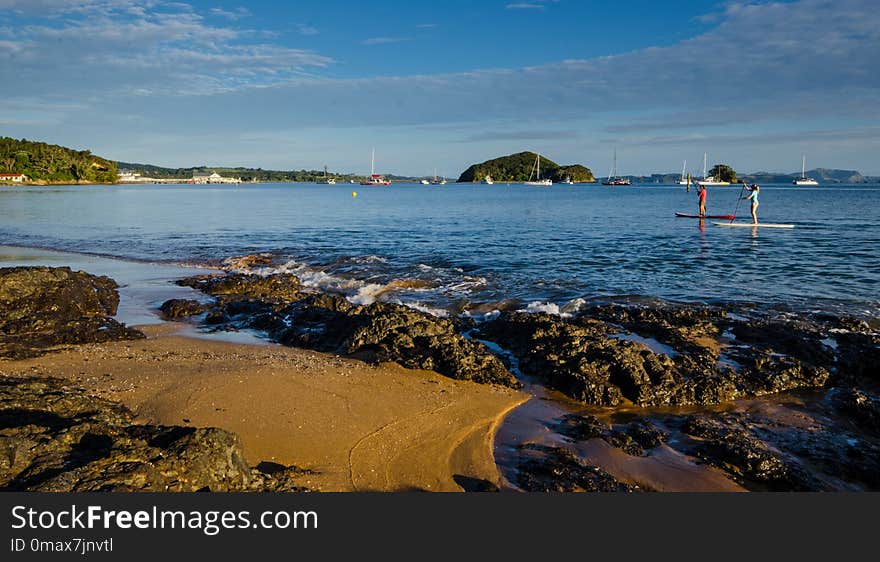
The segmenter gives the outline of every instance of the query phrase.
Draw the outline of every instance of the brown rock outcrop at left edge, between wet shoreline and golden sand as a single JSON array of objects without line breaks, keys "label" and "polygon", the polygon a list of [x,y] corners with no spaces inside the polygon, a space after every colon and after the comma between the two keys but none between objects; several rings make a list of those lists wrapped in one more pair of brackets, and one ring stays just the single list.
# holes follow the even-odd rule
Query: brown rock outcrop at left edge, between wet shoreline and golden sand
[{"label": "brown rock outcrop at left edge, between wet shoreline and golden sand", "polygon": [[116,282],[68,267],[0,268],[0,357],[47,347],[142,338],[112,318]]}]

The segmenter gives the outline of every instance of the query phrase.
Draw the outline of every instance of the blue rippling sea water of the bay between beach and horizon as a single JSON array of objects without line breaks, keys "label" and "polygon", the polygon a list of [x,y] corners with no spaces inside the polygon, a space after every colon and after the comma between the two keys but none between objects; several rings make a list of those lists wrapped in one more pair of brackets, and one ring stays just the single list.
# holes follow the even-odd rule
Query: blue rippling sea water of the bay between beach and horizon
[{"label": "blue rippling sea water of the bay between beach and horizon", "polygon": [[[352,190],[357,197],[352,197]],[[737,187],[710,188],[732,213]],[[0,188],[0,244],[157,262],[275,252],[352,300],[432,310],[648,296],[880,316],[880,188],[766,186],[760,219],[720,228],[680,186],[496,184]],[[745,205],[739,209],[748,220]],[[388,283],[407,280],[410,283]],[[397,290],[389,290],[397,287]]]}]

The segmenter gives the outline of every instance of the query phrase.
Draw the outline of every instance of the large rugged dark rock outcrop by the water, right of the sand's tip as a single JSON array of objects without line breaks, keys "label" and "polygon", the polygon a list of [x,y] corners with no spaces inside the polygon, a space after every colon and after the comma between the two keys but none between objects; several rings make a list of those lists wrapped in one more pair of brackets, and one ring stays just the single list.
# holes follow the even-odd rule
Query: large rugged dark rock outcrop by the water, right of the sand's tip
[{"label": "large rugged dark rock outcrop by the water, right of the sand's tip", "polygon": [[[509,349],[523,373],[576,400],[601,406],[626,401],[639,406],[710,405],[818,388],[830,375],[827,368],[776,353],[771,345],[738,347],[731,357],[741,367],[724,365],[717,339],[723,314],[710,310],[609,308],[591,313],[598,318],[508,312],[482,325],[478,333]],[[628,330],[654,335],[672,349],[652,351],[626,339]],[[762,341],[772,337],[769,333]]]}]

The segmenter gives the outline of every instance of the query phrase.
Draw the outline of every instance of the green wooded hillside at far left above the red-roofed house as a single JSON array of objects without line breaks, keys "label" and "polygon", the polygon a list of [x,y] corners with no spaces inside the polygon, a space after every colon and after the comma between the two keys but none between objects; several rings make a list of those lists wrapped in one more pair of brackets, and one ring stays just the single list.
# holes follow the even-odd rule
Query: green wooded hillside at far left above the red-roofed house
[{"label": "green wooded hillside at far left above the red-roofed house", "polygon": [[88,150],[0,137],[0,170],[37,183],[115,183],[116,163]]}]

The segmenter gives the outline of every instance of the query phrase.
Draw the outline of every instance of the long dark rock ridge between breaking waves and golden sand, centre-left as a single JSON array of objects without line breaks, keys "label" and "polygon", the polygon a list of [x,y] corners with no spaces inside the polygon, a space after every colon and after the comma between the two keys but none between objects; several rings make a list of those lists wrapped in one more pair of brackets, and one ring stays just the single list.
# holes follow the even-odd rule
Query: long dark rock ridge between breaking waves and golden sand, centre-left
[{"label": "long dark rock ridge between breaking waves and golden sand, centre-left", "polygon": [[287,274],[199,277],[182,284],[216,297],[205,322],[217,329],[262,330],[284,345],[520,386],[497,357],[458,333],[451,320],[406,306],[357,306],[338,295],[304,293]]}]

